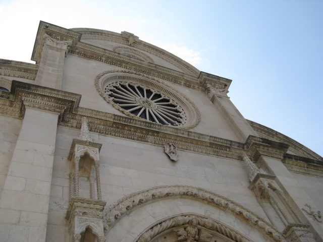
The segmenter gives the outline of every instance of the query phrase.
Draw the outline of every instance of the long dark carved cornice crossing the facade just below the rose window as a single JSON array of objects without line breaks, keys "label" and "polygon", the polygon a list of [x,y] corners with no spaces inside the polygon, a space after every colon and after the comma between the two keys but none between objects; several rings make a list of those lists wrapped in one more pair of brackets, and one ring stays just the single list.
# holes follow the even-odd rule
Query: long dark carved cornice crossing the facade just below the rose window
[{"label": "long dark carved cornice crossing the facade just below the rose window", "polygon": [[[78,94],[13,81],[10,93],[0,91],[0,113],[22,118],[25,105],[28,105],[46,111],[61,113],[59,119],[59,125],[61,126],[80,129],[81,119],[86,117],[89,131],[97,134],[145,142],[161,147],[165,143],[173,143],[176,144],[178,150],[237,160],[241,159],[240,153],[242,151],[246,151],[253,159],[261,154],[283,158],[288,148],[286,144],[259,137],[250,136],[246,143],[243,144],[145,120],[83,108],[78,106],[80,98],[81,95]],[[287,158],[287,156],[285,155],[284,158]],[[317,164],[318,161],[314,160],[311,163],[313,162]],[[285,163],[287,164],[288,162]],[[297,161],[293,163],[293,166],[303,167],[303,164],[307,163]],[[310,165],[310,167],[314,167],[312,164],[307,165],[308,167]],[[315,167],[318,166],[315,165]],[[317,172],[320,171],[317,170]]]}]

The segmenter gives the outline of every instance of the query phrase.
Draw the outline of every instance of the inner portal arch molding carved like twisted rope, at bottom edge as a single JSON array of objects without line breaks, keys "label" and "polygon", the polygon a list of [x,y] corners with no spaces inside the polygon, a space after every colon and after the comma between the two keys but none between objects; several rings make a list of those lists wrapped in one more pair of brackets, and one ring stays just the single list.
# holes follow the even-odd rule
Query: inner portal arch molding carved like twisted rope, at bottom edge
[{"label": "inner portal arch molding carved like twisted rope, at bottom edge", "polygon": [[161,232],[164,232],[169,228],[175,228],[175,227],[189,224],[191,219],[196,219],[198,221],[198,225],[200,225],[202,228],[206,228],[206,229],[210,229],[210,230],[222,233],[227,237],[233,239],[234,241],[237,241],[237,242],[250,241],[249,239],[239,234],[238,232],[234,231],[233,229],[227,226],[224,226],[223,224],[213,219],[196,217],[196,216],[177,216],[174,218],[170,218],[165,222],[159,223],[154,227],[150,228],[148,231],[146,231],[139,237],[137,242],[149,242],[153,237],[160,234]]}]

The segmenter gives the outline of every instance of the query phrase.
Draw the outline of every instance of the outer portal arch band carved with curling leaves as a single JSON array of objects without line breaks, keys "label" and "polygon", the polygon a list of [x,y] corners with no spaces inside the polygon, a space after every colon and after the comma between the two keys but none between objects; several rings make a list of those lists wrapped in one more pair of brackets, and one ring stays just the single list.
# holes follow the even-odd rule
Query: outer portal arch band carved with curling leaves
[{"label": "outer portal arch band carved with curling leaves", "polygon": [[124,199],[119,200],[117,204],[104,211],[103,222],[105,223],[105,229],[110,230],[120,217],[133,208],[141,204],[164,198],[193,198],[202,202],[207,202],[245,220],[251,226],[267,234],[274,240],[285,241],[283,235],[276,228],[272,227],[272,225],[241,205],[204,189],[185,185],[155,187],[133,193]]}]

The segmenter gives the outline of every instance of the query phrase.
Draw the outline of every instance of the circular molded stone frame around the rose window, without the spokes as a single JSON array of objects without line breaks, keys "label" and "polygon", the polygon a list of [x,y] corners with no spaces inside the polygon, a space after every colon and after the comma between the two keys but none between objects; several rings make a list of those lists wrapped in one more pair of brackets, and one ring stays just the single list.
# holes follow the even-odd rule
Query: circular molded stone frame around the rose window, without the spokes
[{"label": "circular molded stone frame around the rose window, without the spokes", "polygon": [[119,104],[113,102],[113,100],[111,100],[111,98],[105,94],[105,87],[114,82],[129,82],[143,85],[151,89],[154,89],[160,93],[163,93],[164,95],[168,96],[170,99],[178,103],[179,106],[184,110],[187,119],[184,125],[172,126],[174,128],[188,130],[194,128],[200,122],[200,113],[195,104],[191,100],[189,100],[184,94],[163,82],[160,82],[146,75],[131,71],[112,70],[100,73],[95,78],[96,90],[99,92],[100,96],[104,98],[104,100],[106,100],[117,110],[123,112],[128,116],[147,121],[146,119],[138,117],[128,112],[126,109],[120,107]]}]

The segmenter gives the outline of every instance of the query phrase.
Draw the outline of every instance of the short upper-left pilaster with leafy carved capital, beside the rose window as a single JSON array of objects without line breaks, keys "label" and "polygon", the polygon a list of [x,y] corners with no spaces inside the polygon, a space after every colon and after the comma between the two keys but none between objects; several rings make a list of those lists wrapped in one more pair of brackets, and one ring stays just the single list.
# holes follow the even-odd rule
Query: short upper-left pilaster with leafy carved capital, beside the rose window
[{"label": "short upper-left pilaster with leafy carved capital, beside the rose window", "polygon": [[44,47],[35,84],[61,89],[65,54],[72,40],[59,41],[44,34],[43,41]]}]

